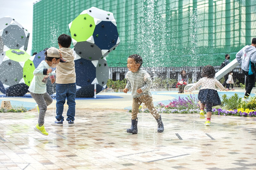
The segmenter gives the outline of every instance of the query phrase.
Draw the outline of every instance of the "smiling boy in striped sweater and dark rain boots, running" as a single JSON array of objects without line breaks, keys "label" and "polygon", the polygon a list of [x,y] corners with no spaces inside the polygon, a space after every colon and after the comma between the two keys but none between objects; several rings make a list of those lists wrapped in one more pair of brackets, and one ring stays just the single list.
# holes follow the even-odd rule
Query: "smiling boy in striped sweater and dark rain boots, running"
[{"label": "smiling boy in striped sweater and dark rain boots, running", "polygon": [[127,59],[127,67],[129,71],[126,73],[127,84],[124,93],[132,91],[132,126],[127,129],[127,133],[138,133],[138,118],[139,107],[141,103],[144,103],[149,112],[154,116],[157,122],[157,132],[164,131],[164,124],[162,122],[161,115],[156,111],[150,88],[152,86],[152,80],[150,75],[143,69],[141,69],[142,58],[138,54],[133,54]]}]

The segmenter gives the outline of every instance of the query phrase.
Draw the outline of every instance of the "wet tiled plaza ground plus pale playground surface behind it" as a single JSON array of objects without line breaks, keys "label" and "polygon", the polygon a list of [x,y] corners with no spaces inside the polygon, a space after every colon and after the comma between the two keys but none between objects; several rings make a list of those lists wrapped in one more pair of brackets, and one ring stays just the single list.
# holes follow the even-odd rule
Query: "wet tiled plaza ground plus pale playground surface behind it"
[{"label": "wet tiled plaza ground plus pale playground surface behind it", "polygon": [[[179,95],[152,93],[156,103]],[[131,106],[131,94],[98,96],[76,100],[73,127],[67,121],[63,127],[52,126],[55,104],[50,105],[48,136],[33,129],[35,109],[0,113],[0,169],[256,169],[255,117],[213,115],[206,127],[199,114],[162,113],[164,132],[157,133],[153,116],[139,113],[138,134],[132,135],[126,133],[131,115],[124,110]],[[6,99],[35,105],[30,97],[1,98]]]}]

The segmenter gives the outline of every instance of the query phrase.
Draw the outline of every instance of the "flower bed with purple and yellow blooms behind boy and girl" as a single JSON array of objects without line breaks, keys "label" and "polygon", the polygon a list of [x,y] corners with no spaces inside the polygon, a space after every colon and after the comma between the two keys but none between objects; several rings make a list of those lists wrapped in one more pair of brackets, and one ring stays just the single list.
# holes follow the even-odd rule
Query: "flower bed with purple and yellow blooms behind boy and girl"
[{"label": "flower bed with purple and yellow blooms behind boy and girl", "polygon": [[[222,96],[223,102],[221,104],[221,108],[213,108],[212,114],[215,115],[233,115],[233,116],[247,116],[247,117],[256,117],[256,110],[249,109],[246,107],[250,107],[249,104],[256,102],[256,97],[252,97],[249,102],[243,102],[241,98],[234,94],[229,99],[227,99],[226,95]],[[237,102],[237,103],[234,103]],[[232,105],[231,105],[232,104]],[[228,107],[234,108],[234,105],[239,108],[235,109],[225,109]],[[195,96],[188,97],[179,97],[178,99],[174,99],[170,101],[169,104],[164,105],[163,103],[158,103],[156,105],[156,110],[159,113],[183,113],[183,114],[191,114],[200,112],[199,109],[199,101]],[[132,112],[132,109],[128,109],[127,112]],[[139,107],[139,112],[148,113],[149,110],[144,106]]]}]

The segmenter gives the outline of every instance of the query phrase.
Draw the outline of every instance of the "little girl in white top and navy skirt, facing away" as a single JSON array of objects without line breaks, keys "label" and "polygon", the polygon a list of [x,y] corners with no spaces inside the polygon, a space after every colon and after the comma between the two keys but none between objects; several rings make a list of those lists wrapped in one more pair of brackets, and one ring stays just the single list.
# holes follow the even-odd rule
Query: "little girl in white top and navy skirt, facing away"
[{"label": "little girl in white top and navy skirt, facing away", "polygon": [[[202,79],[196,82],[195,85],[190,87],[188,90],[184,90],[185,92],[191,92],[202,86],[198,93],[198,100],[201,102],[200,104],[200,118],[204,119],[204,106],[206,105],[207,112],[207,120],[205,121],[205,126],[210,126],[211,117],[212,117],[212,106],[220,105],[220,97],[216,90],[217,86],[221,90],[226,90],[225,87],[215,79],[215,70],[213,66],[204,66],[202,71]],[[227,90],[226,90],[227,91]]]}]

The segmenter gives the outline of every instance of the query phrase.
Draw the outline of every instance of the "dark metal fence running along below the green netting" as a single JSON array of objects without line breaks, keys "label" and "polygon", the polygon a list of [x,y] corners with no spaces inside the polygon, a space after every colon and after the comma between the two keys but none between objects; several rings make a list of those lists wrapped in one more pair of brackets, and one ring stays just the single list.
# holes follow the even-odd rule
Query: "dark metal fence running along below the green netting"
[{"label": "dark metal fence running along below the green netting", "polygon": [[[215,66],[214,68],[216,72],[220,70],[220,66]],[[185,70],[190,80],[189,83],[194,83],[202,78],[201,72],[203,67],[144,67],[143,69],[151,75],[152,79],[159,77],[163,80],[168,78],[177,81],[180,71]],[[126,73],[129,71],[127,67],[109,67],[109,70],[109,79],[112,79],[113,81],[124,80],[126,78]],[[244,73],[241,70],[241,66],[237,66],[233,69],[233,79],[235,87],[240,87],[239,83],[245,83]]]}]

